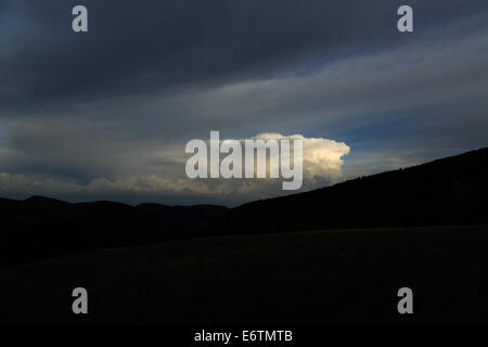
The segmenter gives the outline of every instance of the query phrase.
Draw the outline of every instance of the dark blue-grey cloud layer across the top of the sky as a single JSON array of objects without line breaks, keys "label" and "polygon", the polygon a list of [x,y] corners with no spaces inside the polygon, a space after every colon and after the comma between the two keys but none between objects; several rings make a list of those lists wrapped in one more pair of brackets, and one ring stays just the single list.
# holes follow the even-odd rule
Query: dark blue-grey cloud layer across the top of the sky
[{"label": "dark blue-grey cloud layer across the top of the sky", "polygon": [[[306,70],[317,54],[404,43],[401,1],[84,1],[90,31],[70,30],[79,1],[1,1],[3,106],[76,102]],[[486,11],[486,1],[410,1],[415,28]]]}]

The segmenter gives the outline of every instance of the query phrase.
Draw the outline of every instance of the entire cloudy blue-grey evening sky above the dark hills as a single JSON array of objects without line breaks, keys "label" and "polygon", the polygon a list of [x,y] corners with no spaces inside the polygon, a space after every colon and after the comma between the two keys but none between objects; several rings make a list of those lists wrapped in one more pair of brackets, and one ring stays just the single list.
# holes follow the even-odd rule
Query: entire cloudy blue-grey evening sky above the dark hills
[{"label": "entire cloudy blue-grey evening sky above the dark hills", "polygon": [[306,191],[487,146],[487,91],[486,0],[0,0],[0,196],[291,193],[189,179],[185,144],[211,130],[303,137]]}]

